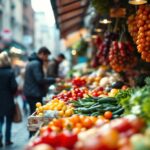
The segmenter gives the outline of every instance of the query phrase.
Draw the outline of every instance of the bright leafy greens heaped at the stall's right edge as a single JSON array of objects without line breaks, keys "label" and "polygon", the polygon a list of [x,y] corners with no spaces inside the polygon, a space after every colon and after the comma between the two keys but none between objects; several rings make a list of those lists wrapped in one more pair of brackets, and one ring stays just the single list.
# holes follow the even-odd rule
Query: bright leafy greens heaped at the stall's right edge
[{"label": "bright leafy greens heaped at the stall's right edge", "polygon": [[125,114],[135,114],[150,122],[150,77],[143,88],[120,91],[116,98],[125,108]]}]

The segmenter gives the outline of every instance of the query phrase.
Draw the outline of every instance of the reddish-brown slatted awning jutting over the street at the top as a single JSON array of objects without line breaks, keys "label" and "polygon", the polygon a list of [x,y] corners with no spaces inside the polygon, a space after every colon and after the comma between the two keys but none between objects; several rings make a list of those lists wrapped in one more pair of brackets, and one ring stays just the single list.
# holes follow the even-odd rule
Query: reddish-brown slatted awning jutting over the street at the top
[{"label": "reddish-brown slatted awning jutting over the street at the top", "polygon": [[64,38],[83,27],[89,0],[51,0],[51,4],[61,37]]}]

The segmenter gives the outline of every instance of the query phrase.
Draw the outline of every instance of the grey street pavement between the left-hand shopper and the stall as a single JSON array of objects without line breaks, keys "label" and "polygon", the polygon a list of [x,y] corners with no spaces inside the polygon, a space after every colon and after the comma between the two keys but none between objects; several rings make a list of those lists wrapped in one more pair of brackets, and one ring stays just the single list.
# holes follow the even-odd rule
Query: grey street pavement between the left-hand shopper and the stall
[{"label": "grey street pavement between the left-hand shopper and the stall", "polygon": [[[20,108],[22,108],[22,100],[21,98],[17,98],[17,101],[20,105]],[[0,148],[0,150],[24,150],[25,145],[29,142],[29,133],[27,130],[27,117],[28,113],[25,115],[22,109],[23,114],[23,121],[21,123],[13,123],[12,125],[12,141],[13,145],[11,146],[5,146],[3,148]],[[5,125],[4,125],[4,131],[5,131]]]}]

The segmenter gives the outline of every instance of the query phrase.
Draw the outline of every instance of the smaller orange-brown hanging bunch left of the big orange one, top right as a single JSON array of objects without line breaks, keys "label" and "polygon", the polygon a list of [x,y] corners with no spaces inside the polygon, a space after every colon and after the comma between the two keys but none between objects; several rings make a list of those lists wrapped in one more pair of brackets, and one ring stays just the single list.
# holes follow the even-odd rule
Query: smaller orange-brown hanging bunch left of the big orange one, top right
[{"label": "smaller orange-brown hanging bunch left of the big orange one, top right", "polygon": [[128,31],[130,35],[132,36],[134,42],[136,43],[137,33],[138,33],[137,16],[136,15],[129,16],[127,20],[127,24],[128,24]]}]

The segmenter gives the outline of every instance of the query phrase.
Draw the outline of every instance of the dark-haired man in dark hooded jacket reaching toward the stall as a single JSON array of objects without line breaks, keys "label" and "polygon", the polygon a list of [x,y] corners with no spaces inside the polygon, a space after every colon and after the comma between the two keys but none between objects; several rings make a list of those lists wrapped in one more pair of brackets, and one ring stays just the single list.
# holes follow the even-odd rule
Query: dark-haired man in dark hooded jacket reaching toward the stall
[{"label": "dark-haired man in dark hooded jacket reaching toward the stall", "polygon": [[44,77],[43,62],[47,61],[50,54],[46,47],[40,48],[37,54],[34,53],[29,58],[26,67],[23,91],[29,103],[31,114],[35,111],[36,103],[42,102],[42,98],[46,95],[46,85],[56,81],[54,78]]}]

